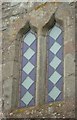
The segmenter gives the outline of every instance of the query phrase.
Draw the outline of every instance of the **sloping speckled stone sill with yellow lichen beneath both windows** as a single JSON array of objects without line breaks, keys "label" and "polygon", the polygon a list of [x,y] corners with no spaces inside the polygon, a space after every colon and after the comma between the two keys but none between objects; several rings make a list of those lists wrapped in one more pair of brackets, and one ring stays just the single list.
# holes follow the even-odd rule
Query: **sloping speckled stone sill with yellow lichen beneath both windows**
[{"label": "sloping speckled stone sill with yellow lichen beneath both windows", "polygon": [[42,106],[15,109],[9,118],[75,118],[75,101],[60,101]]}]

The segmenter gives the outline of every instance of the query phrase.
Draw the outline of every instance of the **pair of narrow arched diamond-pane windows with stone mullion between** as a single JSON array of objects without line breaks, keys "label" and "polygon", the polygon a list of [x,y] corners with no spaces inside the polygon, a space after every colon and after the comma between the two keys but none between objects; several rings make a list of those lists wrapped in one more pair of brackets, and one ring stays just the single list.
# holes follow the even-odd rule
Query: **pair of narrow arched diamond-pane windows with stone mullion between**
[{"label": "pair of narrow arched diamond-pane windows with stone mullion between", "polygon": [[[44,31],[41,31],[44,34]],[[47,34],[48,33],[48,34]],[[42,40],[38,45],[41,44],[42,52],[39,52],[37,48],[37,40],[39,41],[39,36],[36,38],[36,33],[31,29],[26,32],[23,36],[22,42],[22,58],[21,58],[21,81],[20,81],[20,107],[33,106],[38,104],[47,103],[62,100],[63,93],[63,35],[62,29],[58,24],[55,24],[48,31],[46,31],[46,48]],[[38,55],[37,53],[40,53]],[[45,54],[45,58],[44,54]],[[42,56],[42,57],[40,57]],[[37,63],[38,57],[40,57],[40,64]],[[44,62],[42,61],[44,59]],[[37,65],[36,65],[37,64]],[[36,68],[37,66],[37,68]],[[40,66],[40,71],[45,74],[43,76],[38,72],[38,66]],[[36,74],[37,73],[37,74]],[[37,77],[39,74],[39,78]],[[46,78],[47,76],[47,78]],[[40,79],[41,78],[41,79]],[[38,80],[37,80],[38,79]],[[43,80],[44,79],[44,80]],[[40,81],[41,80],[41,81]],[[42,87],[47,86],[46,88]],[[38,86],[41,86],[38,87]],[[40,99],[39,100],[39,92]],[[41,92],[42,91],[42,92]],[[46,93],[47,91],[47,93]],[[43,95],[42,95],[43,94]],[[46,98],[47,96],[47,98]]]}]

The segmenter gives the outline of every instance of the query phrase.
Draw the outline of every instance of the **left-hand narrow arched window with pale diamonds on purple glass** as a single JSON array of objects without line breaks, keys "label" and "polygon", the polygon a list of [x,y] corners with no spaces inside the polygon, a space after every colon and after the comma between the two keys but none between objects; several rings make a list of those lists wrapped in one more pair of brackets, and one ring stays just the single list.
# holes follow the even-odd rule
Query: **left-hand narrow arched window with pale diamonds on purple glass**
[{"label": "left-hand narrow arched window with pale diamonds on purple glass", "polygon": [[26,33],[22,44],[22,72],[20,83],[20,107],[35,104],[36,35]]}]

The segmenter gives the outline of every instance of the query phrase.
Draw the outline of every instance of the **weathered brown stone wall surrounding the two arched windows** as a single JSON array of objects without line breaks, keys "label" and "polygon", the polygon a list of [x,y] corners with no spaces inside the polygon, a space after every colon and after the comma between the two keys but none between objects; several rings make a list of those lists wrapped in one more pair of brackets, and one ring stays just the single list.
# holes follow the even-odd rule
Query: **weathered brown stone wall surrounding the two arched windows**
[{"label": "weathered brown stone wall surrounding the two arched windows", "polygon": [[[43,98],[41,96],[42,101],[40,101],[39,89],[42,83],[39,83],[36,106],[17,110],[22,37],[29,23],[30,27],[34,26],[37,30],[38,43],[40,43],[44,37],[41,34],[42,29],[52,25],[54,20],[62,25],[64,30],[64,100],[40,107]],[[44,42],[44,50],[45,48]],[[41,45],[38,45],[38,51],[41,50]],[[37,55],[38,83],[40,73],[44,71],[41,71],[40,59],[45,60],[46,55],[44,58],[40,56],[40,52]],[[44,82],[45,72],[41,74]],[[75,3],[6,2],[2,4],[2,84],[3,111],[10,112],[9,117],[75,117]]]}]

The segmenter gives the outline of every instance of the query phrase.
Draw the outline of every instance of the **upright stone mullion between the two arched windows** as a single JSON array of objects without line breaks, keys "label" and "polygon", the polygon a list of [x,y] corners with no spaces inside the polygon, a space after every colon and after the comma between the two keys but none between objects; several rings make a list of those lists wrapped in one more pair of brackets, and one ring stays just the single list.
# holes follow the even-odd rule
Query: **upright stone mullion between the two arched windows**
[{"label": "upright stone mullion between the two arched windows", "polygon": [[37,75],[36,75],[36,105],[45,103],[46,91],[46,37],[41,28],[37,35]]}]

